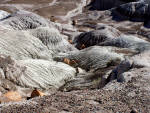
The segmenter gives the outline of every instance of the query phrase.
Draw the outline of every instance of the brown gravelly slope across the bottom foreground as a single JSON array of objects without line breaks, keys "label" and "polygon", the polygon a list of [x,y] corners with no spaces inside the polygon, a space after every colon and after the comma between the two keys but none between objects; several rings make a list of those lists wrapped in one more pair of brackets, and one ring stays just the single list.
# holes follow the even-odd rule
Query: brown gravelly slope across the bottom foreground
[{"label": "brown gravelly slope across the bottom foreground", "polygon": [[[103,89],[56,92],[42,98],[1,104],[1,112],[149,112],[149,68],[133,69],[127,83],[112,81]],[[36,109],[35,109],[36,108]]]}]

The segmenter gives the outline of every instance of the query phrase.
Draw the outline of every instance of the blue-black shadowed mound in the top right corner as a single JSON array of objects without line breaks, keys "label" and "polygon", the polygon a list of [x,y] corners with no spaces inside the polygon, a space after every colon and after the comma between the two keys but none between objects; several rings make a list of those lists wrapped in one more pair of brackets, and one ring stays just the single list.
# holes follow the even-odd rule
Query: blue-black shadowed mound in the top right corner
[{"label": "blue-black shadowed mound in the top right corner", "polygon": [[125,19],[145,21],[150,18],[149,7],[148,2],[131,2],[117,7],[113,14],[119,12],[120,16],[126,17]]}]

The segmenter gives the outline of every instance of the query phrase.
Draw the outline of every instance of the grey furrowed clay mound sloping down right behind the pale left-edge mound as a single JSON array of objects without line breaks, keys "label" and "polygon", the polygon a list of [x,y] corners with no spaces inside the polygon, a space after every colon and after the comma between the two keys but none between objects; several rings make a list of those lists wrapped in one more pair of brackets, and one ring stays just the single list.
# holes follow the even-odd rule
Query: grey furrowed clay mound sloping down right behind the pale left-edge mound
[{"label": "grey furrowed clay mound sloping down right behind the pale left-edge mound", "polygon": [[76,50],[55,28],[39,27],[29,32],[40,39],[52,54]]}]

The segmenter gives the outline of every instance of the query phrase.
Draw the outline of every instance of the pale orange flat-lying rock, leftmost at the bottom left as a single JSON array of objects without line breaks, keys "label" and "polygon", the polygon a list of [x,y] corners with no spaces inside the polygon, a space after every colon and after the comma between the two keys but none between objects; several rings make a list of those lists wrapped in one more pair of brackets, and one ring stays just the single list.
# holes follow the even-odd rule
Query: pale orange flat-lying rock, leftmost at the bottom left
[{"label": "pale orange flat-lying rock, leftmost at the bottom left", "polygon": [[3,95],[7,101],[21,101],[22,97],[17,91],[9,91]]}]

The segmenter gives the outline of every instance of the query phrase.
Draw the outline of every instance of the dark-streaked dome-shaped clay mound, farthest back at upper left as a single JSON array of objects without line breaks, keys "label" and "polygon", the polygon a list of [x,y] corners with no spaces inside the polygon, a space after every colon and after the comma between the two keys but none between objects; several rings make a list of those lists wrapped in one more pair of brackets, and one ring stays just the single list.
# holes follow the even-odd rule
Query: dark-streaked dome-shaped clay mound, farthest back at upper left
[{"label": "dark-streaked dome-shaped clay mound, farthest back at upper left", "polygon": [[14,30],[35,29],[40,26],[48,26],[48,22],[43,17],[28,11],[18,11],[3,21],[0,24]]}]

